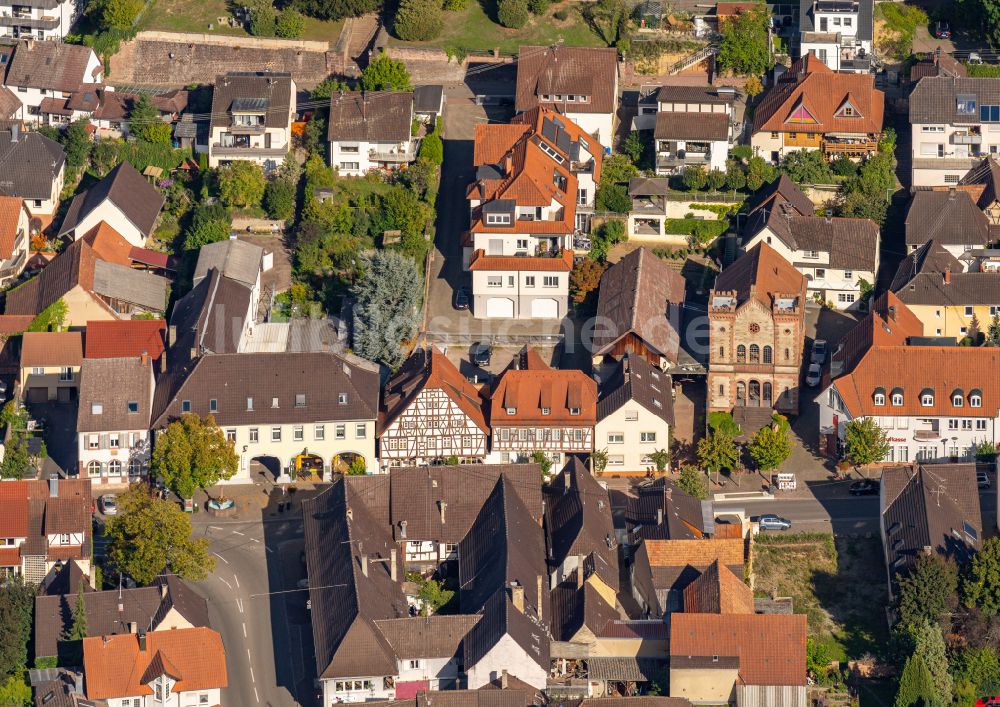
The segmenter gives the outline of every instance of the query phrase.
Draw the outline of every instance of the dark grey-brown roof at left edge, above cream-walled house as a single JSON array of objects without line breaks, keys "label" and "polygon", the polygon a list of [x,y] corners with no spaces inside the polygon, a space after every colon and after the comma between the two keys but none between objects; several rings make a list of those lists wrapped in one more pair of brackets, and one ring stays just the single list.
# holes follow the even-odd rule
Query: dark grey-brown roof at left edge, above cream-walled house
[{"label": "dark grey-brown roof at left edge, above cream-walled house", "polygon": [[[45,42],[49,44],[49,42]],[[58,44],[58,42],[52,42]],[[66,153],[55,140],[20,128],[0,130],[0,194],[21,199],[52,198],[52,183],[66,163]]]}]

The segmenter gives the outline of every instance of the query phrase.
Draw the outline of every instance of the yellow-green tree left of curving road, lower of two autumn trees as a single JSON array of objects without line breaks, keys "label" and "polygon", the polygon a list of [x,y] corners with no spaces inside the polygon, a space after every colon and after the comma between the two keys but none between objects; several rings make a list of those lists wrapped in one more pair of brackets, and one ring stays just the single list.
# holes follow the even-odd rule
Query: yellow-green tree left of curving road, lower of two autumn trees
[{"label": "yellow-green tree left of curving road, lower of two autumn trees", "polygon": [[197,582],[215,569],[207,538],[191,537],[191,519],[171,501],[133,487],[118,497],[118,514],[108,519],[107,560],[139,584],[164,569]]}]

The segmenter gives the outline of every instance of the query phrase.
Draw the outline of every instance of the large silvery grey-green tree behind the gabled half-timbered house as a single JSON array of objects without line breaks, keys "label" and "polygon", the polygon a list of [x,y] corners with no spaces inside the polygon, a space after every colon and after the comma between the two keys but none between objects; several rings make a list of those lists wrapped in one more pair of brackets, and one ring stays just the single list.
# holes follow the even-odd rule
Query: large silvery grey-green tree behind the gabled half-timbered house
[{"label": "large silvery grey-green tree behind the gabled half-timbered house", "polygon": [[364,275],[354,296],[354,352],[395,370],[403,363],[403,342],[416,332],[423,281],[412,258],[378,251],[362,259]]}]

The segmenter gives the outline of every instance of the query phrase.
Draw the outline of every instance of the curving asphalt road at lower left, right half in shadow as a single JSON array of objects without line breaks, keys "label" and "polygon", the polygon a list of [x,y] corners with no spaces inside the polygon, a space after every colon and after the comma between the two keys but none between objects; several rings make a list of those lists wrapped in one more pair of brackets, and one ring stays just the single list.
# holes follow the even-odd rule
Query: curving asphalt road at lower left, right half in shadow
[{"label": "curving asphalt road at lower left, right half in shadow", "polygon": [[222,703],[253,707],[312,705],[312,632],[296,587],[302,522],[298,514],[227,521],[201,516],[215,572],[195,585],[208,600],[212,627],[226,646],[229,687]]}]

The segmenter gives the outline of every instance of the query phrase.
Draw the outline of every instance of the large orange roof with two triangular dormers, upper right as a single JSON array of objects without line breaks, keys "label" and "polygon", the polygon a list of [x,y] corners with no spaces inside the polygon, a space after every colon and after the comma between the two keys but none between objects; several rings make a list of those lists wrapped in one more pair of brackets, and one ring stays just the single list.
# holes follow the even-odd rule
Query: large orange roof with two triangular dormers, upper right
[{"label": "large orange roof with two triangular dormers, upper right", "polygon": [[[838,117],[848,98],[860,115]],[[792,120],[800,111],[812,119]],[[764,96],[751,132],[880,133],[884,111],[885,94],[875,88],[872,74],[834,72],[807,54]]]}]

